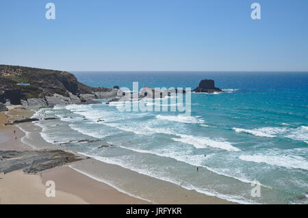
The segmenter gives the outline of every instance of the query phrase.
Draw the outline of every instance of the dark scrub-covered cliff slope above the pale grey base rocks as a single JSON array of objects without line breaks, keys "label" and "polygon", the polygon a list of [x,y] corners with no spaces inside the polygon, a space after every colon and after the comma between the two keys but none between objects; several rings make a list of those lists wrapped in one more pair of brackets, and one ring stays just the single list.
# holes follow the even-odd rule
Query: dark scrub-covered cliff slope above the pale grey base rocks
[{"label": "dark scrub-covered cliff slope above the pale grey base rocks", "polygon": [[[16,83],[30,85],[16,85]],[[94,90],[110,90],[103,87],[89,87],[77,81],[74,74],[58,70],[29,68],[24,66],[0,65],[0,102],[10,100],[20,104],[21,100],[42,98],[60,94],[61,96],[93,94]],[[104,92],[104,91],[103,91]]]}]

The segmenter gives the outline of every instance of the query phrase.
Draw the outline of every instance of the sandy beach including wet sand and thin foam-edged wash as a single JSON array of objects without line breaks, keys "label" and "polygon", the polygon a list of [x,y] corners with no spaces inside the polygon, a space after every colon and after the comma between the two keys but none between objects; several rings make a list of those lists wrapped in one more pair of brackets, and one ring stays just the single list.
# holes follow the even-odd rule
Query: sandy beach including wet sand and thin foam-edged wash
[{"label": "sandy beach including wet sand and thin foam-edged wash", "polygon": [[[26,141],[25,132],[18,126],[3,126],[14,120],[29,118],[34,113],[21,106],[10,107],[10,111],[0,113],[0,150],[36,150],[48,148],[48,143],[39,134],[40,129],[33,124],[21,124],[31,129],[32,139]],[[15,131],[15,133],[14,133]],[[16,138],[15,138],[16,137]],[[25,139],[26,138],[26,139]],[[57,149],[57,148],[55,148]],[[135,196],[115,187],[105,178],[110,175],[118,180],[127,180],[136,187],[153,192],[155,201],[142,198],[142,193]],[[104,178],[105,177],[105,178]],[[0,204],[231,204],[218,197],[207,196],[196,191],[183,189],[178,185],[149,176],[138,174],[129,169],[103,163],[94,159],[86,159],[61,167],[44,170],[38,174],[25,174],[22,170],[1,174]],[[55,182],[56,197],[46,197],[45,186],[48,180]],[[27,188],[25,188],[27,187]],[[157,190],[157,191],[156,191]],[[170,195],[160,195],[159,190],[168,190]]]}]

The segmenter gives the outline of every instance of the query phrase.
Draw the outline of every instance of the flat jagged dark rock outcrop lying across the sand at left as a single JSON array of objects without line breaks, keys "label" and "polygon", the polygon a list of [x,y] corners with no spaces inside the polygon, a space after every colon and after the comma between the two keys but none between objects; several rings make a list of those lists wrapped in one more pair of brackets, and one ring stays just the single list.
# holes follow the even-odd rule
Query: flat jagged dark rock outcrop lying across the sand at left
[{"label": "flat jagged dark rock outcrop lying across the sand at left", "polygon": [[63,150],[0,150],[0,159],[0,172],[4,174],[20,169],[28,174],[36,173],[81,160],[79,156]]}]

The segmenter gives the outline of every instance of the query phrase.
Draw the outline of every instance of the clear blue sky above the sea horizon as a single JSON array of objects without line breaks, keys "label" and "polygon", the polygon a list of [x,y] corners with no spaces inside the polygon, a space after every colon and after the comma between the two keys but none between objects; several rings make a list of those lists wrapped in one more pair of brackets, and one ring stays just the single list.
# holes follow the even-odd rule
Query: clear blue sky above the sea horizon
[{"label": "clear blue sky above the sea horizon", "polygon": [[[254,2],[261,20],[251,19]],[[308,71],[307,10],[307,0],[1,0],[0,64]]]}]

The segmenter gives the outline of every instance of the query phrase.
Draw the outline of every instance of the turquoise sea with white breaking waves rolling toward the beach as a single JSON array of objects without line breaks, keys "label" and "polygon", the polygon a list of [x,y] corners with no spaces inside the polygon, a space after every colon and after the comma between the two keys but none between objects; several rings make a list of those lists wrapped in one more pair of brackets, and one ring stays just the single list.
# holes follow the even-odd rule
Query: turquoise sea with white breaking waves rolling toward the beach
[{"label": "turquoise sea with white breaking waves rolling toward the beach", "polygon": [[[192,93],[190,116],[120,112],[116,105],[106,104],[42,109],[40,113],[61,118],[60,127],[39,124],[47,141],[70,141],[65,146],[101,161],[234,202],[307,204],[308,72],[75,75],[90,86],[130,89],[134,81],[140,88],[193,89],[201,79],[214,79],[226,92]],[[76,142],[84,138],[103,139],[115,147],[99,149],[101,142]],[[254,180],[261,183],[260,197],[251,195]]]}]

